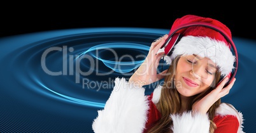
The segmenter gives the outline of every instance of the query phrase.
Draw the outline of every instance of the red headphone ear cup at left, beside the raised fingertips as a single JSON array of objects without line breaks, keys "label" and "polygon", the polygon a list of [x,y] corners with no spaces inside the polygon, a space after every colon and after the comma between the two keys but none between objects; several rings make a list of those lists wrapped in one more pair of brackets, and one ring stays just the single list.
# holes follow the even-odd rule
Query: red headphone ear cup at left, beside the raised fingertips
[{"label": "red headphone ear cup at left, beside the raised fingertips", "polygon": [[171,36],[171,38],[169,40],[167,40],[167,45],[164,49],[164,53],[167,56],[171,56],[171,54],[173,54],[173,47],[178,44],[178,42],[180,41],[182,35],[175,33]]}]

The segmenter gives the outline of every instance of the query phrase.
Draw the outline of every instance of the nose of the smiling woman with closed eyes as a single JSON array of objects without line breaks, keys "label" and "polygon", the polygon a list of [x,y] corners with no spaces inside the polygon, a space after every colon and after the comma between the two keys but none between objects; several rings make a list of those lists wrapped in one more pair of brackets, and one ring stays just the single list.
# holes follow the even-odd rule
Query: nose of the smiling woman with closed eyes
[{"label": "nose of the smiling woman with closed eyes", "polygon": [[201,80],[202,78],[207,79],[207,73],[205,72],[205,68],[203,65],[192,65],[190,75],[199,80]]}]

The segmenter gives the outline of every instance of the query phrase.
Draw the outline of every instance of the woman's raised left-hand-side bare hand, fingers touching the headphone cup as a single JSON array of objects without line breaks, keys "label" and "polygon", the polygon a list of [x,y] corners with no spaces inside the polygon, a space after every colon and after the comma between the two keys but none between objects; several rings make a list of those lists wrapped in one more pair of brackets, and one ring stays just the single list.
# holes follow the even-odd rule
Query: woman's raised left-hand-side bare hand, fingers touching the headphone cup
[{"label": "woman's raised left-hand-side bare hand, fingers touching the headphone cup", "polygon": [[164,56],[164,53],[157,53],[157,51],[159,51],[167,37],[168,35],[164,35],[163,37],[160,37],[156,41],[152,42],[145,61],[143,61],[136,72],[130,77],[129,82],[133,82],[134,84],[138,84],[139,87],[142,87],[143,85],[148,85],[164,78],[164,73],[166,73],[167,70],[157,73],[159,61],[162,56]]}]

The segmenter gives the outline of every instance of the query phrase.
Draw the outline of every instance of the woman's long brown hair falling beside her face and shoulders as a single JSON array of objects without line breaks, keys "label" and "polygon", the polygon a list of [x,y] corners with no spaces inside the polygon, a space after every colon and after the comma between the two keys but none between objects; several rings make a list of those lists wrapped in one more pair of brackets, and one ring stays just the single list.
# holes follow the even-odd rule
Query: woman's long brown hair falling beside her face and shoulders
[{"label": "woman's long brown hair falling beside her face and shoulders", "polygon": [[[174,75],[176,73],[176,66],[178,63],[178,60],[180,60],[180,56],[177,56],[169,66],[169,69],[167,71],[168,75],[166,75],[164,79],[164,83],[162,85],[162,91],[160,94],[159,102],[156,104],[157,109],[160,111],[161,118],[153,124],[153,126],[148,130],[150,133],[164,133],[164,132],[173,132],[171,130],[171,126],[173,125],[173,120],[171,119],[171,114],[177,114],[180,113],[181,110],[181,99],[180,99],[180,93],[177,91],[175,85],[174,85]],[[206,91],[201,92],[200,94],[197,94],[196,96],[191,96],[189,100],[189,104],[187,107],[187,111],[192,110],[192,105],[199,99],[203,98],[211,92],[214,88],[211,86],[215,86],[217,84],[218,80],[220,79],[220,72],[218,72],[215,75],[215,81],[210,85]],[[169,84],[171,81],[171,84]],[[167,84],[168,83],[168,84]],[[216,129],[216,125],[213,122],[213,118],[215,116],[215,109],[218,108],[221,101],[218,99],[208,110],[208,115],[210,118],[210,132],[214,132]]]}]

